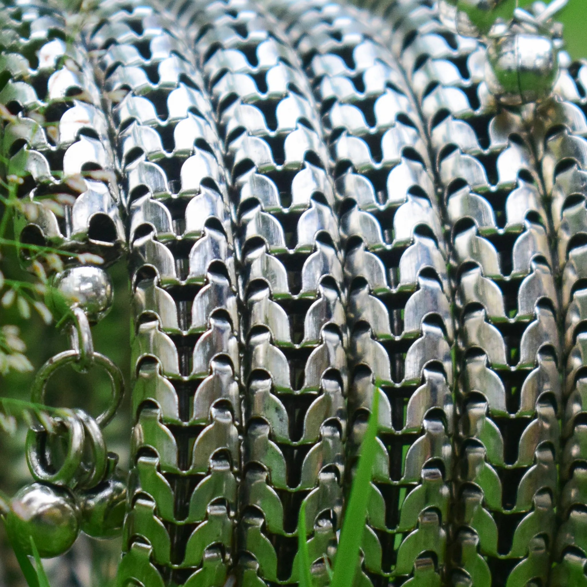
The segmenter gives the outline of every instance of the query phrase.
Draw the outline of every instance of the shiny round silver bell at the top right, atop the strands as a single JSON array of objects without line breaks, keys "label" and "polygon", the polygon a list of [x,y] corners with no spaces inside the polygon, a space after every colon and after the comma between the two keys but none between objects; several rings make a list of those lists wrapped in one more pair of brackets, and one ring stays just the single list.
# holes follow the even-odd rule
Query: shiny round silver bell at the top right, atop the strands
[{"label": "shiny round silver bell at the top right, atop the strands", "polygon": [[508,106],[539,102],[551,95],[558,70],[558,49],[546,36],[507,33],[492,39],[487,48],[487,86]]}]

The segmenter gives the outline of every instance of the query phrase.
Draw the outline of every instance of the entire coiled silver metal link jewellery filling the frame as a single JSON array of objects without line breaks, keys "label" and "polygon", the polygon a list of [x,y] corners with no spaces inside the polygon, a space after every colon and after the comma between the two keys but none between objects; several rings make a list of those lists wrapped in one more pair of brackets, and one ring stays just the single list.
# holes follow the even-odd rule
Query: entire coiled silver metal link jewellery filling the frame
[{"label": "entire coiled silver metal link jewellery filling the frame", "polygon": [[[587,587],[587,63],[564,0],[490,25],[494,0],[356,4],[103,0],[79,34],[57,4],[1,6],[3,173],[36,210],[15,234],[76,255],[46,268],[59,361],[113,382],[104,414],[58,419],[96,463],[51,475],[29,434],[33,485],[67,504],[114,487],[93,255],[127,255],[117,587],[294,587],[303,540],[329,585],[376,397],[353,585]],[[61,193],[64,218],[39,203]]]}]

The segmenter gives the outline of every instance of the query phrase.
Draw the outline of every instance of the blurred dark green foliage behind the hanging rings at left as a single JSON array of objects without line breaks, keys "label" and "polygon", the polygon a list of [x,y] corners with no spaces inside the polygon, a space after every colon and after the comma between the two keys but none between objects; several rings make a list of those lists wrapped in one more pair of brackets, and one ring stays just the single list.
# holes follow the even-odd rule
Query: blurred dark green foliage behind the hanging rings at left
[{"label": "blurred dark green foliage behind the hanging rings at left", "polygon": [[[2,210],[0,210],[2,214]],[[12,235],[7,235],[12,238]],[[6,278],[30,279],[19,266],[13,247],[2,248],[0,271]],[[114,304],[110,313],[92,329],[97,351],[107,355],[120,367],[126,377],[125,397],[119,413],[104,430],[104,437],[109,450],[120,456],[122,467],[128,466],[130,413],[129,380],[130,374],[130,296],[129,277],[126,258],[120,259],[108,270],[114,285]],[[31,280],[32,281],[32,280]],[[34,373],[41,365],[56,353],[69,348],[69,339],[65,333],[55,328],[55,323],[46,325],[41,317],[32,313],[31,318],[23,320],[16,309],[0,307],[0,326],[16,324],[21,329],[21,337],[26,343],[26,355],[31,360],[34,370],[31,373],[11,371],[7,376],[0,376],[0,396],[29,400]],[[110,384],[104,373],[98,369],[90,370],[86,375],[66,367],[50,380],[48,386],[48,403],[53,406],[79,406],[90,414],[99,414],[110,398]],[[0,455],[4,466],[0,467],[0,490],[9,495],[14,494],[22,485],[31,483],[31,476],[24,457],[26,427],[20,422],[12,436],[0,432]],[[65,555],[64,561],[52,559],[45,562],[53,586],[72,585],[63,576],[63,569],[76,575],[92,578],[92,585],[107,585],[116,571],[120,555],[120,540],[95,541],[82,538],[76,543],[73,552]],[[85,544],[84,544],[85,543]],[[77,551],[79,552],[76,552]],[[84,555],[80,555],[83,552]],[[85,560],[81,560],[85,559]],[[66,565],[62,563],[66,562]],[[82,568],[80,568],[80,566]],[[83,567],[86,567],[85,569]],[[89,583],[83,583],[89,584]],[[0,585],[25,587],[24,577],[18,562],[8,548],[4,527],[0,524]]]}]

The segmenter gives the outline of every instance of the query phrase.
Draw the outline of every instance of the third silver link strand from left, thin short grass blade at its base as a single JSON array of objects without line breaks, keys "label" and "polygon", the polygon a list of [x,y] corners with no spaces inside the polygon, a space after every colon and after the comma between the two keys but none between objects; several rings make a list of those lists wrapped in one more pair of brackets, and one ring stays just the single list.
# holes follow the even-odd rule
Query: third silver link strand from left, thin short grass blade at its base
[{"label": "third silver link strand from left, thin short grass blade at its base", "polygon": [[172,2],[212,96],[237,220],[244,387],[239,584],[298,582],[306,504],[328,581],[342,511],[346,319],[328,151],[308,81],[251,2]]}]

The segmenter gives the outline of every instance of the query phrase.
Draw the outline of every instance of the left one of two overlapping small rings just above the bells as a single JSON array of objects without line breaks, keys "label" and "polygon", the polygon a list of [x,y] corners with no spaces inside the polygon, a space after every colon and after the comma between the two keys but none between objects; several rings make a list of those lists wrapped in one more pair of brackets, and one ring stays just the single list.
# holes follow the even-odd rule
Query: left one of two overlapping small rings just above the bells
[{"label": "left one of two overlapping small rings just above the bells", "polygon": [[36,481],[45,481],[55,485],[69,485],[72,483],[83,458],[85,444],[85,430],[77,416],[69,410],[63,410],[63,416],[59,420],[65,424],[69,433],[68,451],[63,464],[55,473],[46,470],[39,454],[43,453],[42,443],[49,433],[46,430],[29,429],[26,434],[26,462],[29,465],[31,475]]}]

